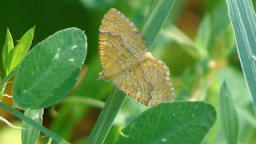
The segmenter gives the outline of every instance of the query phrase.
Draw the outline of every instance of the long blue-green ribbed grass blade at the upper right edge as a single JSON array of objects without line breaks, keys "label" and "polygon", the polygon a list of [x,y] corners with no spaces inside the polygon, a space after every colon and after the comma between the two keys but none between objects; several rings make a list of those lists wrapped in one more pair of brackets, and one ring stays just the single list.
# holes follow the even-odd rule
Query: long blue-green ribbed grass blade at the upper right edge
[{"label": "long blue-green ribbed grass blade at the upper right edge", "polygon": [[256,113],[256,17],[250,0],[226,0],[236,38],[243,74],[253,99]]}]

